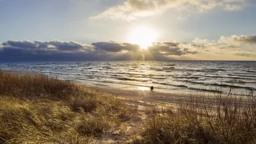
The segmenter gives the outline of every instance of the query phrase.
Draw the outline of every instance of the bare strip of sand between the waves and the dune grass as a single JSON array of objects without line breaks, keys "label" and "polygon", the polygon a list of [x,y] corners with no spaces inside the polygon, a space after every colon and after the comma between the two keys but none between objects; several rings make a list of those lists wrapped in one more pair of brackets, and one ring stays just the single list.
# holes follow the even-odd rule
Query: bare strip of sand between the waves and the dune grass
[{"label": "bare strip of sand between the waves and the dune grass", "polygon": [[[204,99],[204,102],[214,103],[216,102],[216,97],[211,93],[180,93],[180,92],[159,92],[154,89],[155,92],[150,92],[149,90],[127,90],[124,88],[113,88],[110,86],[95,86],[93,84],[78,83],[79,86],[84,88],[90,88],[97,92],[109,93],[111,95],[116,95],[122,99],[127,100],[127,102],[134,103],[137,102],[141,109],[150,108],[153,106],[177,106],[178,104],[186,104],[188,102]],[[193,97],[191,97],[193,95]]]}]

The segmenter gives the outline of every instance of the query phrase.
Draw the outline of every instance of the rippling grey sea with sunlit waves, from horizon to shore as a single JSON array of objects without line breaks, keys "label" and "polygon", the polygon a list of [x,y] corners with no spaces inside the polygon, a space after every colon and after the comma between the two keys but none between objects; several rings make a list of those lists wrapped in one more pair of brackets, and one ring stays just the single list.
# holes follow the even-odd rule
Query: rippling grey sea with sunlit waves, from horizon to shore
[{"label": "rippling grey sea with sunlit waves, from horizon to shore", "polygon": [[74,83],[163,92],[239,94],[256,90],[256,61],[0,62]]}]

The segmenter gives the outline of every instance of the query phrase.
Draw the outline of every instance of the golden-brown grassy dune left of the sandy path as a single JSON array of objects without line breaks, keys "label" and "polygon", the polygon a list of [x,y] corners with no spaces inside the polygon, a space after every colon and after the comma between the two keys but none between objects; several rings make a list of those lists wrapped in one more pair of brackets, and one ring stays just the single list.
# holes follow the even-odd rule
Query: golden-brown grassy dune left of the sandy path
[{"label": "golden-brown grassy dune left of the sandy path", "polygon": [[93,143],[134,113],[74,83],[0,72],[0,143]]}]

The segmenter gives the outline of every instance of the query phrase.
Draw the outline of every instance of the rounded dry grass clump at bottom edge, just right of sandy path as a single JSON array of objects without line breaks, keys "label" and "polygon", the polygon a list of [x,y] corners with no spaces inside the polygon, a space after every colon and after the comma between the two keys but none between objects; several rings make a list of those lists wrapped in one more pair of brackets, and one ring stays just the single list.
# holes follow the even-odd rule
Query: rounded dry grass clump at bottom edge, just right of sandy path
[{"label": "rounded dry grass clump at bottom edge, just right of sandy path", "polygon": [[198,135],[196,126],[179,115],[156,115],[142,133],[143,143],[195,143]]}]

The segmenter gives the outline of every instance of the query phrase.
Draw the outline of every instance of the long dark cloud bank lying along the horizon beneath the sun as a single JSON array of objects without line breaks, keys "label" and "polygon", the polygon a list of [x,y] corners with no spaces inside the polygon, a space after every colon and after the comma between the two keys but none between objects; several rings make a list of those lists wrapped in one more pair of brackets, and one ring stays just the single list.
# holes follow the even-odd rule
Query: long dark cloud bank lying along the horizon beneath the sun
[{"label": "long dark cloud bank lying along the horizon beneath the sun", "polygon": [[60,40],[8,40],[0,43],[0,61],[191,60],[200,59],[198,56],[205,52],[252,59],[255,47],[250,44],[255,43],[255,35],[221,36],[219,40],[195,38],[191,43],[153,42],[148,49],[113,41],[81,44]]}]

